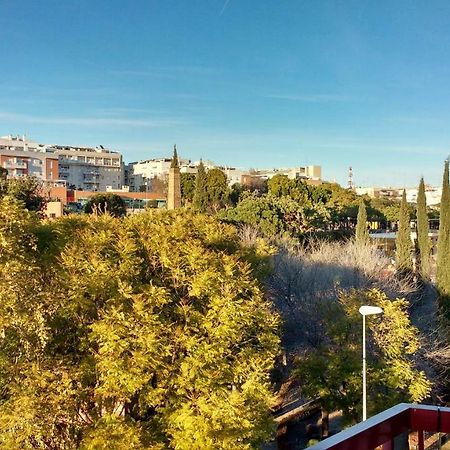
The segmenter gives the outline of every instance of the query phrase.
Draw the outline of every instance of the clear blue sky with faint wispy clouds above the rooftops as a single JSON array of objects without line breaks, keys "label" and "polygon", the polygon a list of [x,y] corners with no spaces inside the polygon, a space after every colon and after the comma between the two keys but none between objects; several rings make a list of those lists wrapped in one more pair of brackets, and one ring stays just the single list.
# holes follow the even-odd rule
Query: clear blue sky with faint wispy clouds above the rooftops
[{"label": "clear blue sky with faint wispy clouds above the rooftops", "polygon": [[450,2],[0,0],[0,135],[439,184]]}]

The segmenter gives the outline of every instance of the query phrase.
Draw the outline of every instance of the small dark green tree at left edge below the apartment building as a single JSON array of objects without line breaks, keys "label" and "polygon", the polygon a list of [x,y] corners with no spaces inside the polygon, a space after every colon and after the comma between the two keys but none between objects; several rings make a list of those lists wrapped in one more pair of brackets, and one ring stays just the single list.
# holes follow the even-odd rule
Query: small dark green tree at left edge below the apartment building
[{"label": "small dark green tree at left edge below the apartment building", "polygon": [[42,183],[35,177],[9,180],[0,177],[0,197],[4,195],[22,201],[29,211],[42,211],[48,201],[42,191]]}]

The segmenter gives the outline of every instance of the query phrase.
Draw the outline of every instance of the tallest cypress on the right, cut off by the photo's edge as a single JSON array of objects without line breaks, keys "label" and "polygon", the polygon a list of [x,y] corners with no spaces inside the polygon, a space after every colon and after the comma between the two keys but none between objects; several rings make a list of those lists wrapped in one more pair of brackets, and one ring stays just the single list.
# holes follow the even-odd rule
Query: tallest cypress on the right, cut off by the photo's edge
[{"label": "tallest cypress on the right, cut off by the photo's edge", "polygon": [[448,184],[448,160],[445,161],[444,176],[442,179],[436,284],[441,294],[442,304],[442,300],[450,296],[450,189]]}]

